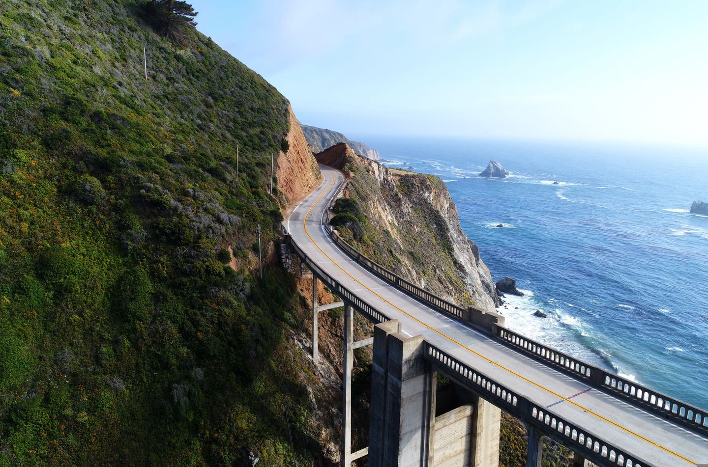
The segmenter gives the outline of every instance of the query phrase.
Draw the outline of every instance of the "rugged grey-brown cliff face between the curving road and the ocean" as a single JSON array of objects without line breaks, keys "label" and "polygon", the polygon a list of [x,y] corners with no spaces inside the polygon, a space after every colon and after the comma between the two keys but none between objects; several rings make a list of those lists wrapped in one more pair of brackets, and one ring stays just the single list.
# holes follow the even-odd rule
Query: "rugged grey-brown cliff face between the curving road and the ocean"
[{"label": "rugged grey-brown cliff face between the curving road and the ocean", "polygon": [[433,175],[398,173],[356,156],[346,144],[316,158],[353,175],[344,196],[357,202],[365,235],[364,253],[421,287],[461,306],[498,306],[489,269],[462,232],[445,183]]}]

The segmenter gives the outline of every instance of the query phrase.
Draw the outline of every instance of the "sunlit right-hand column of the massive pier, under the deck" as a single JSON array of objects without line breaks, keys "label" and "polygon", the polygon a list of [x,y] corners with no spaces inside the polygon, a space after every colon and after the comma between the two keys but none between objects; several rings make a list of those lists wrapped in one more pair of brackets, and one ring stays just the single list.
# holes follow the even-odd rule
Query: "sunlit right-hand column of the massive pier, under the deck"
[{"label": "sunlit right-hand column of the massive pier, under the deck", "polygon": [[472,405],[474,413],[472,413],[469,465],[472,467],[498,467],[501,409],[483,398],[477,398]]}]

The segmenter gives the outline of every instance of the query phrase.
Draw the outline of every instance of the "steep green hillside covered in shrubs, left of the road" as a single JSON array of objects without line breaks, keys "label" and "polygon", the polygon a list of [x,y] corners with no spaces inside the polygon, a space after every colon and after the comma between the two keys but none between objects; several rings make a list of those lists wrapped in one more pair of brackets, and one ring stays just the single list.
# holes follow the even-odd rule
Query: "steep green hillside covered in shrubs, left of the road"
[{"label": "steep green hillside covered in shrubs, left of the road", "polygon": [[295,284],[252,272],[287,101],[143,12],[2,2],[0,466],[312,463]]}]

